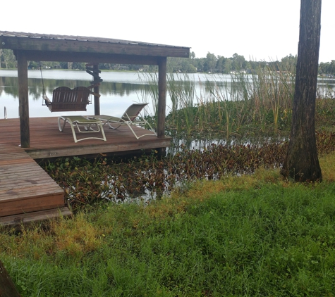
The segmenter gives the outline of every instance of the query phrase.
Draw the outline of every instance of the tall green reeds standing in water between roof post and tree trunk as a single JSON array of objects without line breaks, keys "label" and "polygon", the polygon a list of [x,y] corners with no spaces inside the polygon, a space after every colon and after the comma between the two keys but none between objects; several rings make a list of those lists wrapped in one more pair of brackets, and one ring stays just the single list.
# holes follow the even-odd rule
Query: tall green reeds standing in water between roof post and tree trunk
[{"label": "tall green reeds standing in water between roof post and tree trunk", "polygon": [[[189,135],[193,127],[198,130],[224,127],[228,138],[232,133],[243,133],[243,127],[248,125],[260,127],[262,132],[272,126],[277,133],[280,120],[287,117],[293,101],[293,75],[270,68],[259,68],[251,75],[238,72],[231,75],[230,80],[217,76],[214,82],[199,82],[198,94],[195,94],[195,82],[188,77],[176,79],[172,75],[168,82],[171,120],[179,124],[185,122]],[[194,109],[194,99],[197,109]],[[178,113],[178,110],[183,112]],[[177,115],[183,115],[183,120],[177,120]]]}]

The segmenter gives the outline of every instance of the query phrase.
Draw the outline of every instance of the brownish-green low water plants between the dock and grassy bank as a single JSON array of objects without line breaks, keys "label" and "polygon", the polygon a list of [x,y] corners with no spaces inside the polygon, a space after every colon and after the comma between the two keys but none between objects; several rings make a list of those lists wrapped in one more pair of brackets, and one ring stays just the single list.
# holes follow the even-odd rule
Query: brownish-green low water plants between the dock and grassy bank
[{"label": "brownish-green low water plants between the dock and grassy bank", "polygon": [[[252,174],[257,168],[279,168],[287,141],[256,144],[212,144],[189,149],[171,148],[164,158],[157,151],[126,160],[60,158],[44,170],[65,190],[73,210],[109,201],[151,201],[181,184],[221,179],[229,174]],[[334,151],[334,133],[318,132],[319,153]]]}]

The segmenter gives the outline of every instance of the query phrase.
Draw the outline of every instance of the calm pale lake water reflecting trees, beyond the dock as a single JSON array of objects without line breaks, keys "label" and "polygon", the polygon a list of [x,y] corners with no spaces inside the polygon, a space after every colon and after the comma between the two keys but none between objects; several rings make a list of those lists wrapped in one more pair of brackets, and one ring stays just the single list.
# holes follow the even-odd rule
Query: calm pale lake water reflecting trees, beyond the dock
[{"label": "calm pale lake water reflecting trees, beyond the dock", "polygon": [[[128,106],[133,102],[149,102],[147,112],[154,114],[152,99],[148,96],[147,89],[150,89],[149,73],[142,72],[102,72],[100,77],[104,80],[99,92],[100,112],[102,114],[121,116]],[[42,80],[43,77],[43,80]],[[190,80],[195,85],[195,97],[200,96],[205,82],[217,82],[231,85],[231,75],[208,75],[189,74],[173,75],[176,81]],[[58,116],[59,113],[51,113],[47,106],[42,106],[43,85],[49,99],[52,98],[52,91],[56,87],[78,87],[89,86],[92,76],[85,71],[78,70],[28,70],[29,86],[29,110],[30,117]],[[149,82],[150,81],[150,82]],[[335,89],[334,80],[320,80],[320,85],[331,86]],[[226,97],[229,94],[226,93]],[[229,99],[229,98],[227,98]],[[196,103],[196,102],[195,102]],[[0,70],[0,118],[4,118],[6,107],[8,118],[18,118],[18,72],[17,70]],[[166,114],[171,110],[169,92],[166,96]],[[94,115],[94,104],[87,106],[86,112],[80,115]],[[70,115],[71,113],[61,113]]]}]

